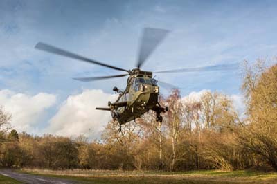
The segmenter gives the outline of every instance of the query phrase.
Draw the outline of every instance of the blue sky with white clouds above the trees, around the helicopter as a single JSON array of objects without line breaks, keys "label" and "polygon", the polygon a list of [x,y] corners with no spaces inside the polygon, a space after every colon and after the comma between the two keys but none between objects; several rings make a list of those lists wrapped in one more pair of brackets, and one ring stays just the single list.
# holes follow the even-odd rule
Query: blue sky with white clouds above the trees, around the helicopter
[{"label": "blue sky with white clouds above the trees, around the helicopter", "polygon": [[[110,120],[112,88],[127,78],[72,77],[119,71],[35,50],[37,42],[132,69],[144,27],[170,30],[143,65],[147,71],[254,62],[276,56],[276,1],[0,1],[0,105],[30,134],[100,138]],[[166,73],[183,97],[220,91],[242,109],[239,71]],[[162,89],[166,95],[168,90]]]}]

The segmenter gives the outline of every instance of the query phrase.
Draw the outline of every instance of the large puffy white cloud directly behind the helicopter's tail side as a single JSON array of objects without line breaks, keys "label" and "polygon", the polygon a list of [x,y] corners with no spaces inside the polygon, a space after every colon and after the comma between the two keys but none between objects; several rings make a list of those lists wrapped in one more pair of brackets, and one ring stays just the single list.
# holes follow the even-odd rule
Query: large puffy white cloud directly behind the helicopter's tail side
[{"label": "large puffy white cloud directly behind the helicopter's tail side", "polygon": [[45,132],[61,136],[88,136],[99,138],[102,129],[111,119],[109,111],[98,111],[96,107],[107,107],[108,101],[114,101],[116,95],[102,90],[84,90],[70,95],[62,104]]}]

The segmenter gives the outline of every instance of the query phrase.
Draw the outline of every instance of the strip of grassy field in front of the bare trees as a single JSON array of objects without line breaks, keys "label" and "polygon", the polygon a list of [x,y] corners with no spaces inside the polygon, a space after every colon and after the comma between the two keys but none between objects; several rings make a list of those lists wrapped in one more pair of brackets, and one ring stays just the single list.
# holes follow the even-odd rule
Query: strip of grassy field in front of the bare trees
[{"label": "strip of grassy field in front of the bare trees", "polygon": [[65,171],[22,169],[21,172],[58,178],[69,178],[83,183],[277,183],[276,172],[223,172],[218,170],[193,172],[128,172],[80,169]]}]

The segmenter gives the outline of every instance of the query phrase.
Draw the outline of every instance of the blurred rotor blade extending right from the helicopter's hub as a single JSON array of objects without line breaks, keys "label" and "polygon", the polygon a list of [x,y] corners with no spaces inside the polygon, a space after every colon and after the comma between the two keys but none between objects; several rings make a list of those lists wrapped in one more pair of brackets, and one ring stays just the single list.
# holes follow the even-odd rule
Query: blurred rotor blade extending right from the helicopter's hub
[{"label": "blurred rotor blade extending right from the helicopter's hub", "polygon": [[177,72],[195,72],[195,71],[229,71],[237,70],[239,64],[218,64],[213,66],[204,66],[197,68],[181,68],[169,71],[154,71],[153,73],[177,73]]}]

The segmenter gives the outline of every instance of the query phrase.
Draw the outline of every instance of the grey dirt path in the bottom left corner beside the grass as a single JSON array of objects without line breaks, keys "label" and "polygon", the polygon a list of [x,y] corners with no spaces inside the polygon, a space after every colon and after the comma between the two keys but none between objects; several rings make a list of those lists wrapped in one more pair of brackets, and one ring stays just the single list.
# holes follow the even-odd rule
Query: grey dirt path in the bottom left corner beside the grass
[{"label": "grey dirt path in the bottom left corner beside the grass", "polygon": [[68,179],[63,178],[51,178],[44,176],[36,176],[32,174],[24,174],[15,172],[11,169],[0,169],[0,174],[3,176],[8,176],[10,178],[14,178],[17,181],[28,184],[77,184],[77,181],[70,181]]}]

